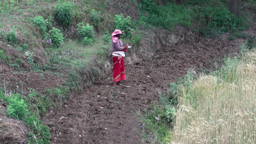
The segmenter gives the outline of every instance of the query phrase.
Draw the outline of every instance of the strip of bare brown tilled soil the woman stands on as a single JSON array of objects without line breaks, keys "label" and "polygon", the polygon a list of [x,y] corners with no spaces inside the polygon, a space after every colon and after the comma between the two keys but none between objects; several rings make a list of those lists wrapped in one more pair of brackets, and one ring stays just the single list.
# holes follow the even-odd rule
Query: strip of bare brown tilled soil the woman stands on
[{"label": "strip of bare brown tilled soil the woman stands on", "polygon": [[134,113],[158,101],[168,83],[184,76],[189,68],[197,73],[209,69],[216,59],[238,53],[235,44],[218,39],[201,39],[162,49],[134,65],[126,63],[127,80],[112,87],[111,75],[97,81],[82,94],[72,97],[60,111],[48,113],[53,143],[143,143]]}]

